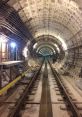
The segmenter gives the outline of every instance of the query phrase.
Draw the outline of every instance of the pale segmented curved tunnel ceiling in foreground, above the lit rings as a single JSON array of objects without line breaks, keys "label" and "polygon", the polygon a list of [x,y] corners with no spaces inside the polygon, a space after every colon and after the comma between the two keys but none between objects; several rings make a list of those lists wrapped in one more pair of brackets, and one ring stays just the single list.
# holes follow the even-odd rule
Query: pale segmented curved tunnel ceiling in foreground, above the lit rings
[{"label": "pale segmented curved tunnel ceiling in foreground, above the lit rings", "polygon": [[53,35],[69,46],[72,36],[82,28],[82,12],[72,0],[20,0],[13,6],[34,38]]}]

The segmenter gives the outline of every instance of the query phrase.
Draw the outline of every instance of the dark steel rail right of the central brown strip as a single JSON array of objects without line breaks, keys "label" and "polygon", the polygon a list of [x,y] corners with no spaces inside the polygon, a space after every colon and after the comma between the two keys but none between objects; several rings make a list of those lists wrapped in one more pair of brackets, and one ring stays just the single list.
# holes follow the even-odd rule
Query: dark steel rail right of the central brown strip
[{"label": "dark steel rail right of the central brown strip", "polygon": [[50,63],[49,63],[49,65],[50,65],[50,68],[51,68],[52,73],[54,75],[54,78],[56,80],[59,91],[60,91],[60,93],[61,93],[61,95],[62,95],[62,97],[63,97],[63,99],[64,99],[64,101],[66,103],[66,107],[67,107],[67,109],[70,110],[70,112],[72,114],[71,116],[73,116],[73,117],[82,117],[82,114],[79,112],[76,104],[74,103],[73,99],[71,98],[71,95],[69,94],[68,89],[63,84],[59,74],[57,73],[56,70],[54,70],[52,68]]}]

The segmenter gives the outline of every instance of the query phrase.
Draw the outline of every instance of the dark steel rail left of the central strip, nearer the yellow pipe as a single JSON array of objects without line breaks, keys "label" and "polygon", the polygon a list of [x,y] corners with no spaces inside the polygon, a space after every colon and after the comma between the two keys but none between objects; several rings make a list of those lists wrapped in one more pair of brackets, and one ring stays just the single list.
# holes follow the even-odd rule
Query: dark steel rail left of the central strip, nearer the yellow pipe
[{"label": "dark steel rail left of the central strip, nearer the yellow pipe", "polygon": [[[42,63],[42,65],[43,65],[43,63]],[[36,80],[38,79],[38,77],[40,75],[42,65],[39,68],[39,70],[35,73],[33,78],[31,78],[31,80],[27,84],[27,86],[24,89],[23,93],[21,94],[20,98],[16,101],[15,106],[13,106],[12,109],[10,110],[8,117],[20,117],[21,116],[20,112],[22,109],[24,109],[25,104],[26,104],[26,99],[28,98],[28,95],[30,94]]]}]

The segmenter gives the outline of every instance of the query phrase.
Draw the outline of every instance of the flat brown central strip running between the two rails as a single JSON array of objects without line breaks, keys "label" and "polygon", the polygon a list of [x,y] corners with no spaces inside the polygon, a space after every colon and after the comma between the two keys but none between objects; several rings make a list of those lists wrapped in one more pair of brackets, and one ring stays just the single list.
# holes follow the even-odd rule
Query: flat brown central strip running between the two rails
[{"label": "flat brown central strip running between the two rails", "polygon": [[39,117],[53,117],[47,62],[45,62],[45,68],[42,79],[42,96],[40,102]]}]

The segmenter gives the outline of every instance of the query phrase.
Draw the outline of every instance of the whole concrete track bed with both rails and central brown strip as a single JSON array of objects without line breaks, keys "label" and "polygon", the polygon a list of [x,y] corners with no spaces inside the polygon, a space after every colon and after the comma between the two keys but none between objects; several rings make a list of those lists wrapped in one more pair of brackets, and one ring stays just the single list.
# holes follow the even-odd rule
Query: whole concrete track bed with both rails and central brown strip
[{"label": "whole concrete track bed with both rails and central brown strip", "polygon": [[0,117],[82,117],[81,95],[47,61],[18,85]]}]

